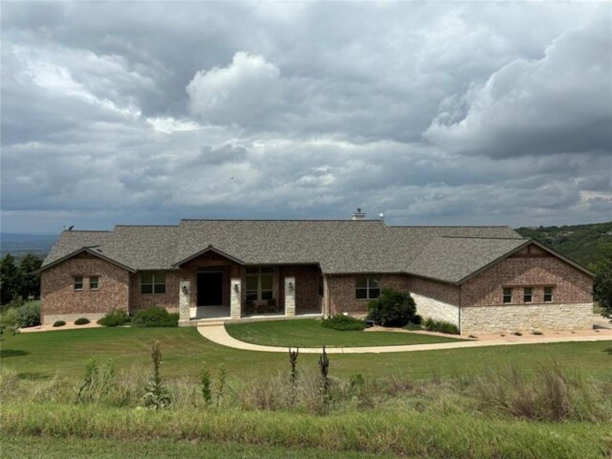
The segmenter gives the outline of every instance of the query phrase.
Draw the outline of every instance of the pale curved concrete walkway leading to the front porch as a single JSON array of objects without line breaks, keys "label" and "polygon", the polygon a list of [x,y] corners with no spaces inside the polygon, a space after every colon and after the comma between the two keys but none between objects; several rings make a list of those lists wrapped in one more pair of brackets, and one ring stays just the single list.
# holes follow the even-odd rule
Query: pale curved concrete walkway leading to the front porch
[{"label": "pale curved concrete walkway leading to the front porch", "polygon": [[[286,353],[287,348],[278,346],[262,346],[245,343],[231,337],[223,325],[198,327],[198,332],[207,340],[228,348],[244,349],[245,351],[264,351],[269,353]],[[454,343],[433,343],[424,345],[401,345],[401,346],[373,346],[362,348],[326,348],[329,354],[380,354],[401,353],[414,351],[433,351],[435,349],[461,349],[480,348],[482,346],[506,346],[519,344],[542,344],[542,343],[566,343],[580,341],[606,341],[612,340],[612,335],[589,335],[589,336],[563,336],[563,337],[504,337],[494,340],[471,340],[457,341]],[[321,348],[300,348],[300,353],[320,354]]]}]

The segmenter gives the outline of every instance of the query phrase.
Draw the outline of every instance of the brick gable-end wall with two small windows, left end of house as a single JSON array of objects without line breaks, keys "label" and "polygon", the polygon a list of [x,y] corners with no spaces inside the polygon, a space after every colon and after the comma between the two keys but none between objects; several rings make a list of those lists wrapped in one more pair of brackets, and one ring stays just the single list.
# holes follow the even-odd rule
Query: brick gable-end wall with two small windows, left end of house
[{"label": "brick gable-end wall with two small windows, left end of house", "polygon": [[[128,310],[129,271],[89,253],[81,253],[40,274],[43,323],[85,316],[102,317],[113,308]],[[83,290],[73,289],[73,277],[83,277]],[[99,277],[99,288],[89,289],[89,277]],[[76,315],[76,317],[74,317]]]}]

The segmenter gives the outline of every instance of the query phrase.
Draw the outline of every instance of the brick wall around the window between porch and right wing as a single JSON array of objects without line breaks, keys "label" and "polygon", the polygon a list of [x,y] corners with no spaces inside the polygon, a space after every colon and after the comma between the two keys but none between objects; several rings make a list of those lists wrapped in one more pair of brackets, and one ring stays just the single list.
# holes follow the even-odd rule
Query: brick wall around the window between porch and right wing
[{"label": "brick wall around the window between porch and right wing", "polygon": [[[375,276],[376,274],[371,274]],[[348,312],[351,315],[365,315],[368,312],[368,301],[356,299],[357,275],[330,275],[327,278],[329,289],[329,306],[331,315]],[[393,288],[409,291],[409,276],[405,274],[383,274],[381,288]]]}]

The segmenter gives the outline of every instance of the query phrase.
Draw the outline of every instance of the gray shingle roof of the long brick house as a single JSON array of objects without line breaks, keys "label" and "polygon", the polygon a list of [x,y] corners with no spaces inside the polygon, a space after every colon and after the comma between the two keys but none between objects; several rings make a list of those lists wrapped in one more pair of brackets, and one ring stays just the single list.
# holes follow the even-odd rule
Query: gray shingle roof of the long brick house
[{"label": "gray shingle roof of the long brick house", "polygon": [[43,267],[96,245],[98,252],[135,270],[176,269],[176,263],[212,245],[245,264],[318,263],[326,274],[414,270],[414,274],[455,282],[464,272],[476,271],[524,241],[507,226],[387,226],[379,220],[181,220],[176,226],[64,231]]}]

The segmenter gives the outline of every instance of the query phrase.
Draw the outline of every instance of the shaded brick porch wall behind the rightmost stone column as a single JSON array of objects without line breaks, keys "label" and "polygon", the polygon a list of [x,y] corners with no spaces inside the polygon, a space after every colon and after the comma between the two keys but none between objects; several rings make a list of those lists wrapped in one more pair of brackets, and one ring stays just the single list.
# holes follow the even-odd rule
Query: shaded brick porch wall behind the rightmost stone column
[{"label": "shaded brick porch wall behind the rightmost stone column", "polygon": [[[296,278],[296,313],[302,311],[321,313],[323,296],[319,295],[319,285],[323,285],[321,269],[318,266],[280,266],[278,285],[285,285],[285,277]],[[278,289],[279,304],[285,305],[285,289]]]}]

